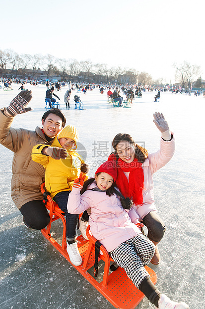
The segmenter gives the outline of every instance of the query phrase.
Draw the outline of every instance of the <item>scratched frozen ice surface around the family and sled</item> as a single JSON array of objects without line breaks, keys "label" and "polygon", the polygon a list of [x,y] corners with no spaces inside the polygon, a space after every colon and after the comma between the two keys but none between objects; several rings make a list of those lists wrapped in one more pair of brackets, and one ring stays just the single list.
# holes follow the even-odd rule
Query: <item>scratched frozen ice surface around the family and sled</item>
[{"label": "scratched frozen ice surface around the family and sled", "polygon": [[[14,91],[0,90],[0,107],[7,106]],[[46,87],[28,85],[33,92],[34,111],[15,117],[13,127],[34,130],[41,126],[45,112]],[[80,94],[85,110],[66,110],[67,88],[58,96],[67,124],[79,131],[86,150],[90,175],[111,152],[117,133],[129,133],[138,143],[155,152],[160,132],[152,122],[154,112],[162,112],[176,137],[172,160],[154,175],[155,203],[166,224],[159,244],[162,261],[149,265],[158,276],[158,289],[175,301],[185,301],[191,309],[205,308],[205,98],[185,94],[145,92],[131,109],[114,108],[106,92],[98,89]],[[82,147],[81,147],[82,148]],[[83,152],[83,155],[85,152]],[[98,293],[40,231],[27,229],[10,197],[12,152],[0,146],[0,308],[1,309],[111,309]],[[60,223],[54,233],[58,235]],[[61,233],[61,230],[60,230]],[[153,308],[144,299],[138,309]]]}]

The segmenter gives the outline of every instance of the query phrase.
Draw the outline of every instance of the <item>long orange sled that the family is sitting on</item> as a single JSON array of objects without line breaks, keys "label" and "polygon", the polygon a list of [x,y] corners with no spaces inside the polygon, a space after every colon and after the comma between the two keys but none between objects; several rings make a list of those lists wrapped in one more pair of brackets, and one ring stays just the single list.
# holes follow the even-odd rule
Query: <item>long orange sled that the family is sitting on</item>
[{"label": "long orange sled that the family is sitting on", "polygon": [[[58,207],[48,192],[45,191],[44,183],[41,185],[41,192],[44,196],[44,204],[50,212],[50,223],[46,229],[42,229],[42,234],[50,241],[50,243],[68,260],[69,256],[66,250],[66,219],[64,212]],[[55,220],[61,219],[63,222],[63,240],[62,244],[59,244],[51,236],[51,225]],[[82,264],[80,266],[72,265],[78,272],[89,282],[95,289],[100,292],[115,308],[118,309],[134,309],[144,298],[144,294],[140,292],[128,278],[125,270],[119,267],[116,271],[109,273],[110,263],[113,261],[107,250],[103,245],[97,246],[97,240],[89,232],[89,226],[86,231],[89,240],[85,240],[82,235],[77,237],[79,253],[82,257]],[[99,242],[97,242],[100,244]],[[95,247],[98,250],[95,250]],[[95,277],[98,272],[98,262],[103,261],[104,272],[100,269],[99,274],[103,279],[100,280]],[[94,276],[92,269],[94,268]],[[149,267],[145,266],[147,272],[150,275],[151,281],[155,284],[157,282],[157,276],[155,272]],[[100,276],[99,276],[100,277]],[[98,279],[98,281],[97,281]],[[102,279],[102,280],[101,280]],[[100,281],[100,282],[99,282]]]}]

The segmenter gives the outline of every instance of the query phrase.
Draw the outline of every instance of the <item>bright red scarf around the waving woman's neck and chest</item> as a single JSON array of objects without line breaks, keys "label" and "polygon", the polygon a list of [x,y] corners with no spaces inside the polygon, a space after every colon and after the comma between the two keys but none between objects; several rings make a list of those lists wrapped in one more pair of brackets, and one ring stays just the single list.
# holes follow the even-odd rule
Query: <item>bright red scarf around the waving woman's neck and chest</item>
[{"label": "bright red scarf around the waving woman's neck and chest", "polygon": [[[144,173],[137,158],[133,162],[127,163],[118,159],[116,184],[125,197],[129,197],[136,205],[143,205],[142,190],[144,189]],[[130,172],[129,181],[124,172]]]}]

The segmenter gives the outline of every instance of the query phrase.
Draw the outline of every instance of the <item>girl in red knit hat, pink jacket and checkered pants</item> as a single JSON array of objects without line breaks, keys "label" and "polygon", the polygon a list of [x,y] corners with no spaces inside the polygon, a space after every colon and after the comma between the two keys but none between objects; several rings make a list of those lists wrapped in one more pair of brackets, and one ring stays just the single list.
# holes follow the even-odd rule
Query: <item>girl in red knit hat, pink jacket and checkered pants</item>
[{"label": "girl in red knit hat, pink jacket and checkered pants", "polygon": [[[69,194],[68,212],[79,214],[91,209],[89,224],[92,235],[106,248],[117,265],[125,269],[137,289],[156,308],[188,309],[185,303],[170,301],[151,282],[144,266],[154,255],[155,246],[132,222],[129,216],[133,210],[132,202],[128,199],[125,201],[124,197],[120,200],[120,192],[114,187],[116,177],[115,161],[106,161],[100,165],[95,177],[85,181],[84,186],[84,176],[81,174],[74,180]],[[135,210],[134,214],[137,221]]]}]

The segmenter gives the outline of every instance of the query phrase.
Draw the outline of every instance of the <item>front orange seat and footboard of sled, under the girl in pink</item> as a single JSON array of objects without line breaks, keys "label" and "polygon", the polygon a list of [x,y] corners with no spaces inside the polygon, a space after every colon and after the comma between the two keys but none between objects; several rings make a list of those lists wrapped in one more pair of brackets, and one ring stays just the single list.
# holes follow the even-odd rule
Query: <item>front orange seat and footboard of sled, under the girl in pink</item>
[{"label": "front orange seat and footboard of sled, under the girl in pink", "polygon": [[[87,227],[86,235],[89,239],[89,246],[83,261],[82,267],[86,270],[88,263],[92,261],[92,266],[96,268],[96,242],[97,240],[90,232],[90,226]],[[97,242],[100,244],[99,242]],[[113,261],[103,245],[98,250],[98,261],[104,261],[104,274],[102,282],[98,283],[95,278],[87,278],[87,280],[115,307],[120,309],[134,309],[144,298],[144,294],[139,291],[133,282],[128,278],[125,270],[121,267],[109,274],[110,263]],[[89,266],[90,268],[90,266]],[[145,266],[146,271],[150,275],[150,279],[155,284],[157,282],[156,273]],[[94,273],[98,269],[94,269]],[[85,277],[85,276],[84,276]]]}]

